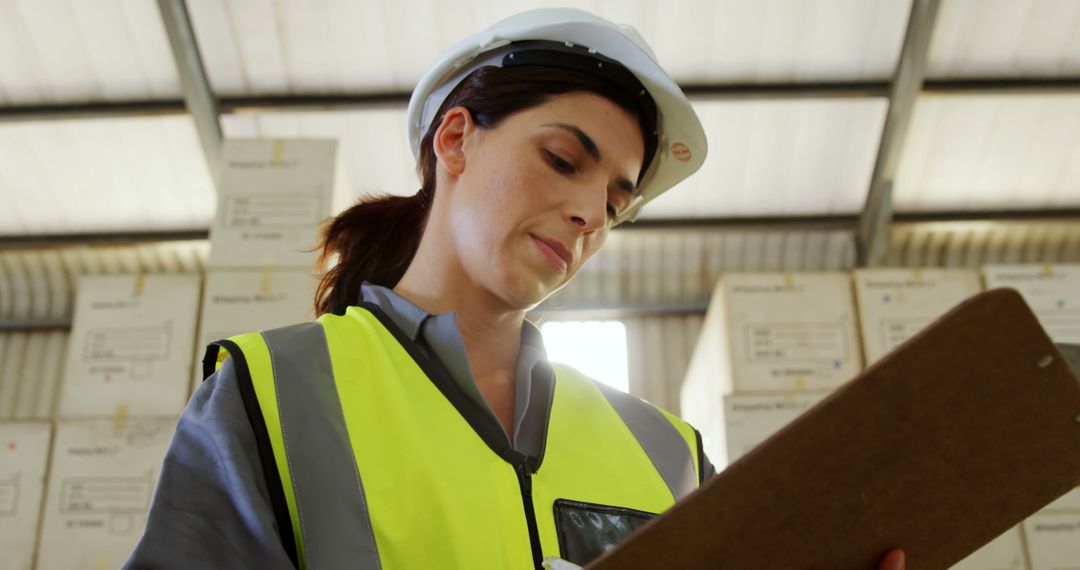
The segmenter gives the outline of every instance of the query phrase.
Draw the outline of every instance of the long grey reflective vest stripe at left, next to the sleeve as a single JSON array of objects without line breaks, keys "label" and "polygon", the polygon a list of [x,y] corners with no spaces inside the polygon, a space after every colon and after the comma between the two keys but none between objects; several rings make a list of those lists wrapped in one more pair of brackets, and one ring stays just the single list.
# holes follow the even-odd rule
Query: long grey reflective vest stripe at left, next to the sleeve
[{"label": "long grey reflective vest stripe at left, next to the sleeve", "polygon": [[322,325],[265,330],[262,338],[273,366],[307,567],[380,568]]}]

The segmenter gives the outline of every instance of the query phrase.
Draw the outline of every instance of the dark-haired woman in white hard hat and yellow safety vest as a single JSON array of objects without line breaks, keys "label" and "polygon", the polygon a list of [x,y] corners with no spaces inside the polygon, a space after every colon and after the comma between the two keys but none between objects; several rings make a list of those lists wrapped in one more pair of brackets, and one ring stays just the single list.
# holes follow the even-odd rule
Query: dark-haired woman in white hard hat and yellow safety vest
[{"label": "dark-haired woman in white hard hat and yellow safety vest", "polygon": [[691,426],[549,364],[525,321],[704,158],[640,38],[514,16],[408,118],[420,191],[327,227],[318,321],[210,348],[131,567],[584,565],[712,475]]}]

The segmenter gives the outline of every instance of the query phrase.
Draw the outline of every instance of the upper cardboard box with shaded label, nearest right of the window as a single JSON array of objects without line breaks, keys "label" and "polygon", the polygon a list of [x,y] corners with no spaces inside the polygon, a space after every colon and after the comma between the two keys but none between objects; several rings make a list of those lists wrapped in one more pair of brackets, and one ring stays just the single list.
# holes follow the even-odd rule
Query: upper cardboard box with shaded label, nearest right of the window
[{"label": "upper cardboard box with shaded label, nearest right of the window", "polygon": [[681,410],[704,425],[724,394],[829,390],[861,369],[846,273],[729,273],[713,293]]}]

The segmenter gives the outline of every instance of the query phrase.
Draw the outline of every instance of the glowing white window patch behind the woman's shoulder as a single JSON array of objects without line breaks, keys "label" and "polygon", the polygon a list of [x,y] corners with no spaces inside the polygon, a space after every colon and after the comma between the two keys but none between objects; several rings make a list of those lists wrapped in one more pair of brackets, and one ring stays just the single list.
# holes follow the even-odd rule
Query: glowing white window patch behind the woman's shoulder
[{"label": "glowing white window patch behind the woman's shoulder", "polygon": [[548,358],[630,392],[626,327],[617,321],[552,321],[540,327]]}]

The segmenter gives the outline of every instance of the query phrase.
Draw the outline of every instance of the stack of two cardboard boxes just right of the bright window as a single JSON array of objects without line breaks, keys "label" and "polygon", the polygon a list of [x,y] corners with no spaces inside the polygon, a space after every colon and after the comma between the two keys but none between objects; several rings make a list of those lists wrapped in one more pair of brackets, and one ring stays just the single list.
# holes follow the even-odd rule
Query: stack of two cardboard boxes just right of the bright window
[{"label": "stack of two cardboard boxes just right of the bright window", "polygon": [[683,416],[723,469],[862,369],[846,273],[728,274],[683,386]]}]

